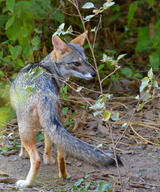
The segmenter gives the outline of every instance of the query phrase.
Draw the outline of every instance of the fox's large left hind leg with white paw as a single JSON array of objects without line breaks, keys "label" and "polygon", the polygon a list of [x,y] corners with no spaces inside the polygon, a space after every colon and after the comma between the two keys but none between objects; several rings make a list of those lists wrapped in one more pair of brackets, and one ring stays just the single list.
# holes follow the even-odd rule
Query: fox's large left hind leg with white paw
[{"label": "fox's large left hind leg with white paw", "polygon": [[34,123],[30,125],[26,121],[19,123],[21,142],[30,157],[30,170],[26,179],[16,182],[17,187],[20,188],[30,187],[33,184],[40,167],[41,160],[36,149],[36,131],[34,128]]}]

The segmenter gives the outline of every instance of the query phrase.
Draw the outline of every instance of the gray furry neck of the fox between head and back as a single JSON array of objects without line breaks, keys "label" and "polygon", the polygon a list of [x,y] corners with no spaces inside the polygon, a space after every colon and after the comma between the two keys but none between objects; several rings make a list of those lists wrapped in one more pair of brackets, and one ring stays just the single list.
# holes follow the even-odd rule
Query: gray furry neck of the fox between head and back
[{"label": "gray furry neck of the fox between head and back", "polygon": [[59,88],[63,87],[64,82],[68,80],[68,77],[65,77],[59,70],[59,66],[54,60],[53,52],[42,59],[39,65],[52,75],[52,78],[56,81]]}]

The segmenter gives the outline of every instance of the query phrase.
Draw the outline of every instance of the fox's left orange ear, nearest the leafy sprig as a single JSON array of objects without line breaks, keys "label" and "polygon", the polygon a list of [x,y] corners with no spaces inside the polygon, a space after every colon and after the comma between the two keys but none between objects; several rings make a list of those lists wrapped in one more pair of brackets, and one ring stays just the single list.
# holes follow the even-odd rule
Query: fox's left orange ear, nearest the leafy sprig
[{"label": "fox's left orange ear, nearest the leafy sprig", "polygon": [[60,55],[64,55],[65,53],[71,51],[71,48],[69,48],[67,44],[62,41],[57,35],[52,36],[52,44],[54,46],[54,51]]}]

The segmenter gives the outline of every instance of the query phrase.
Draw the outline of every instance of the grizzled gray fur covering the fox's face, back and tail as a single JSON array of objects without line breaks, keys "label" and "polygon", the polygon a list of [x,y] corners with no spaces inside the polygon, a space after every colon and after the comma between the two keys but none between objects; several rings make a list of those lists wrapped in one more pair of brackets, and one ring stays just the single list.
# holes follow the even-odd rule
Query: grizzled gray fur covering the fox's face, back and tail
[{"label": "grizzled gray fur covering the fox's face, back and tail", "polygon": [[[41,60],[38,65],[46,68],[37,78],[26,79],[25,75],[32,70],[34,64],[24,67],[12,83],[10,89],[11,103],[16,110],[20,135],[25,137],[24,129],[30,132],[33,126],[44,128],[51,140],[66,153],[91,164],[107,167],[114,164],[112,153],[104,153],[80,141],[68,133],[60,122],[57,106],[60,106],[59,90],[63,86],[61,79],[70,76],[91,79],[93,69],[86,61],[83,48],[76,44],[68,44],[72,52],[58,63],[53,58],[53,52]],[[73,62],[81,60],[82,66],[73,66]],[[69,68],[66,64],[70,63]],[[38,66],[37,65],[37,66]],[[88,75],[86,75],[88,74]],[[89,75],[90,74],[90,75]],[[27,86],[35,85],[33,92],[25,90]],[[120,161],[119,161],[120,162]]]}]

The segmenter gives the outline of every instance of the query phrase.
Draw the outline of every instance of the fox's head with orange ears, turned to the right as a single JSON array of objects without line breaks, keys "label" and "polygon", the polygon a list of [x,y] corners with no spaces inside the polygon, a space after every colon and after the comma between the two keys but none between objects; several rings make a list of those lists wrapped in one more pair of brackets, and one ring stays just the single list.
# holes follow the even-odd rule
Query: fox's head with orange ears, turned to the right
[{"label": "fox's head with orange ears, turned to the right", "polygon": [[90,67],[82,47],[86,36],[87,32],[84,32],[68,44],[58,36],[52,36],[54,62],[63,77],[74,76],[86,80],[95,77],[96,73]]}]

